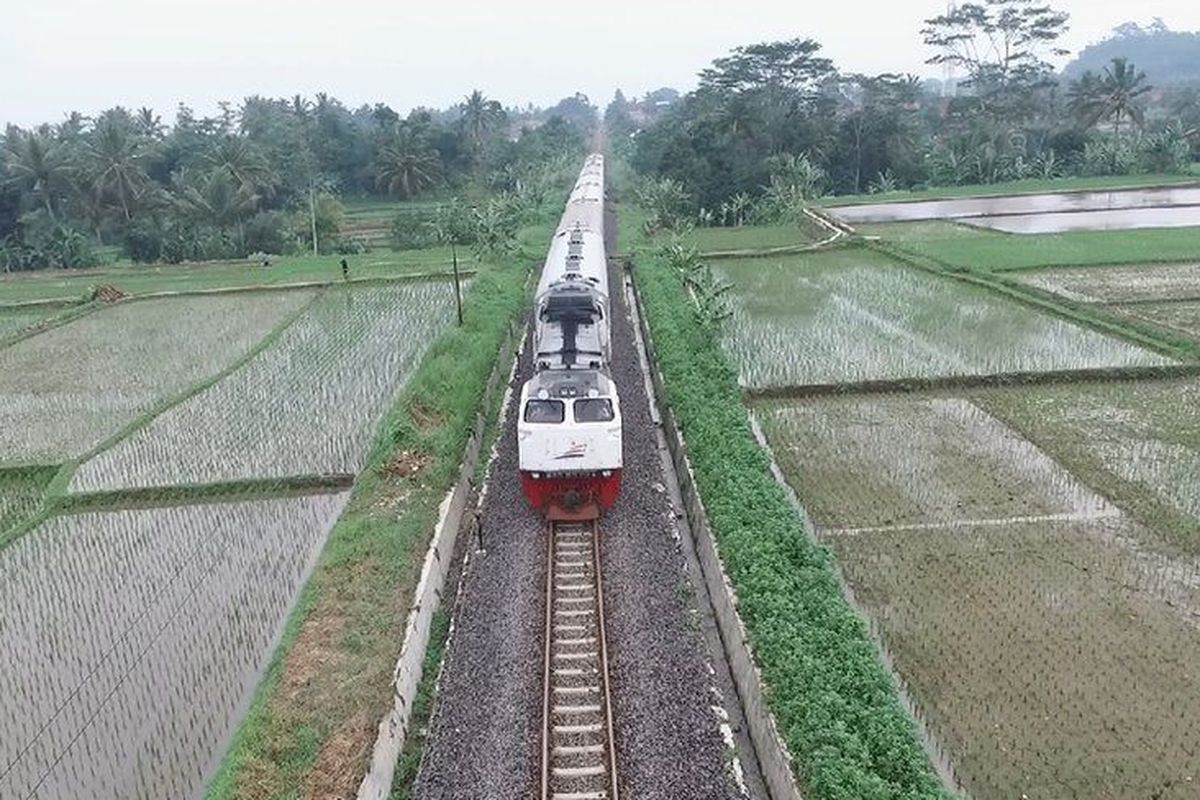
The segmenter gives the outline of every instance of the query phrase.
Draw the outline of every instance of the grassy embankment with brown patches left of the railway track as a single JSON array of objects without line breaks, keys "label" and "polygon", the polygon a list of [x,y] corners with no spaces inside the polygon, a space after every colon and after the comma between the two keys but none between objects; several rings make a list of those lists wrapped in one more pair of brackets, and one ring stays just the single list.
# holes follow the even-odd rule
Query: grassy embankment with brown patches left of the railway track
[{"label": "grassy embankment with brown patches left of the railway track", "polygon": [[[532,234],[530,234],[532,235]],[[548,236],[544,228],[542,242]],[[524,259],[521,259],[524,261]],[[349,796],[391,703],[424,547],[526,302],[526,271],[485,267],[467,324],[438,338],[379,428],[349,506],[288,619],[209,800]],[[416,459],[420,469],[389,470]]]}]

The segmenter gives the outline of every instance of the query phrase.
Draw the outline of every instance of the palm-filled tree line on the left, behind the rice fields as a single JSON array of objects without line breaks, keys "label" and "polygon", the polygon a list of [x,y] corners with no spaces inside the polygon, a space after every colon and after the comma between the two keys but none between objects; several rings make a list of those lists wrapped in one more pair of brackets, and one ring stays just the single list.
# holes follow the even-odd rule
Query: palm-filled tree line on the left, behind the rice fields
[{"label": "palm-filled tree line on the left, behind the rice fields", "polygon": [[[180,106],[170,125],[152,109],[118,107],[8,126],[0,269],[90,266],[114,249],[173,263],[355,252],[362,243],[341,231],[341,198],[529,199],[551,180],[547,164],[578,152],[596,120],[582,95],[522,110],[480,91],[404,116],[324,94],[220,109],[197,116]],[[514,198],[499,207],[511,206]]]}]

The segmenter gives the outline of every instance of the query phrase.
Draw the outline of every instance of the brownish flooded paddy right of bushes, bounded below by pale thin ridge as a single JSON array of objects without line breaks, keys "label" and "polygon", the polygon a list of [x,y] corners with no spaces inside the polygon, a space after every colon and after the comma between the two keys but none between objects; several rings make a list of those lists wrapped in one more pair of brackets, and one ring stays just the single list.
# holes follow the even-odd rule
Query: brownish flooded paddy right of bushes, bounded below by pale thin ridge
[{"label": "brownish flooded paddy right of bushes, bounded below by pale thin ridge", "polygon": [[977,405],[868,396],[758,407],[822,529],[929,527],[1117,510]]}]

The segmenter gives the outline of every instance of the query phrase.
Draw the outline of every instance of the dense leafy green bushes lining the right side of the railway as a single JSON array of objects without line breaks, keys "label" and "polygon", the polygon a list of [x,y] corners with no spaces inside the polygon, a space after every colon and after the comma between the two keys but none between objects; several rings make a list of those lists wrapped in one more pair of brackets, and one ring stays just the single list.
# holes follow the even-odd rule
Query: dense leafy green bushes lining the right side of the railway
[{"label": "dense leafy green bushes lining the right side of the railway", "polygon": [[769,473],[714,336],[678,275],[641,257],[637,285],[674,410],[768,703],[810,800],[950,798],[832,555]]}]

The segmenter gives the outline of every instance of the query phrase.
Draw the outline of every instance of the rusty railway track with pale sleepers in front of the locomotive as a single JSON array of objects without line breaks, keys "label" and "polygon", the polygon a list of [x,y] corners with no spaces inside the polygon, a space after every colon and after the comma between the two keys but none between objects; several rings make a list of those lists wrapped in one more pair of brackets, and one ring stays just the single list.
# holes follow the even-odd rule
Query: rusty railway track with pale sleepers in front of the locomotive
[{"label": "rusty railway track with pale sleepers in front of the locomotive", "polygon": [[542,800],[618,800],[600,528],[550,523]]}]

